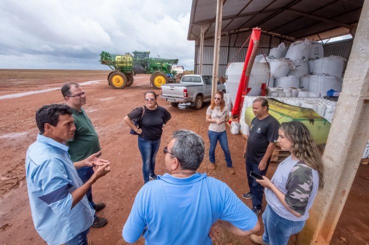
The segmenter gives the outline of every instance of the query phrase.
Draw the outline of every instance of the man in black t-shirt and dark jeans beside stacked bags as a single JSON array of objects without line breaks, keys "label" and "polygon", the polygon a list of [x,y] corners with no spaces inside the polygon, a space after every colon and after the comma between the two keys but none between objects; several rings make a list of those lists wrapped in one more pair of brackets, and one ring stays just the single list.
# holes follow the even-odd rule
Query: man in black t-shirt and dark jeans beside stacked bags
[{"label": "man in black t-shirt and dark jeans beside stacked bags", "polygon": [[264,176],[268,170],[271,155],[277,139],[279,122],[268,113],[269,103],[264,98],[257,98],[252,104],[255,118],[251,121],[250,134],[246,140],[243,156],[246,158],[247,182],[250,191],[243,193],[245,199],[252,199],[252,211],[261,212],[264,187],[250,176],[253,171]]}]

